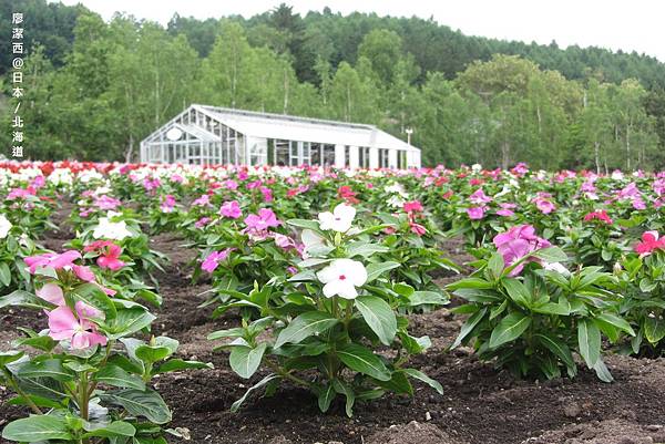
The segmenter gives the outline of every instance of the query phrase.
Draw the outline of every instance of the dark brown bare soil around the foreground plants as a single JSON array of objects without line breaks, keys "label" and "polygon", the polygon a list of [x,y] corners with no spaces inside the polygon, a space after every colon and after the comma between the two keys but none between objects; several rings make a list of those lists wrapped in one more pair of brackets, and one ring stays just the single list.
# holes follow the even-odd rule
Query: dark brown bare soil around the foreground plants
[{"label": "dark brown bare soil around the foreground plants", "polygon": [[[61,240],[61,239],[59,239]],[[432,348],[412,366],[444,388],[438,395],[416,383],[413,399],[389,395],[357,404],[348,419],[336,404],[318,411],[308,392],[283,384],[273,397],[250,397],[237,414],[228,411],[245,390],[263,378],[238,378],[225,352],[212,352],[206,335],[238,324],[233,313],[212,320],[212,308],[200,309],[209,285],[191,281],[192,251],[172,235],[157,236],[153,248],[171,262],[157,276],[164,306],[154,326],[157,334],[181,342],[188,359],[213,362],[215,369],[168,374],[155,386],[174,411],[172,427],[193,443],[211,444],[646,444],[665,442],[665,359],[606,358],[615,382],[602,383],[581,371],[575,380],[518,381],[470,349],[447,351],[461,320],[442,309],[411,316],[413,334],[428,334]],[[462,255],[453,251],[450,256]],[[44,317],[22,310],[0,316],[0,350],[16,339],[14,328],[45,327]],[[9,397],[0,388],[0,401]],[[18,407],[0,405],[0,427],[20,417]],[[0,440],[1,442],[1,440]],[[170,442],[181,442],[170,438]]]}]

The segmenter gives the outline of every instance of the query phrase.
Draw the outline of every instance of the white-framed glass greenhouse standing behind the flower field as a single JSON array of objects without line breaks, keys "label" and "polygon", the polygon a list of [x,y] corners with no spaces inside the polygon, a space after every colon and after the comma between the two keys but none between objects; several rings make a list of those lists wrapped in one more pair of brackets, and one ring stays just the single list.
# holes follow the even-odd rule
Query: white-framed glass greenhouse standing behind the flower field
[{"label": "white-framed glass greenhouse standing behind the flower field", "polygon": [[141,162],[420,167],[420,149],[372,125],[191,105],[141,142]]}]

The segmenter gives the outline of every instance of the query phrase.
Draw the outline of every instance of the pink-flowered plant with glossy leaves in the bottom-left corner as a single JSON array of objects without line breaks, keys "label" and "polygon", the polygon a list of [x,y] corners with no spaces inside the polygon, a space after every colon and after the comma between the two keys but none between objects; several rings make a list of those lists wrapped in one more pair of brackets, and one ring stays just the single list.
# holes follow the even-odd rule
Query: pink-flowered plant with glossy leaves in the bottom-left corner
[{"label": "pink-flowered plant with glossy leaves in the bottom-left corner", "polygon": [[31,414],[7,424],[2,437],[21,443],[166,443],[162,425],[171,411],[150,388],[153,376],[211,366],[173,358],[177,341],[147,333],[155,317],[136,303],[114,297],[79,251],[25,258],[35,293],[17,290],[0,308],[44,310],[48,330],[21,329],[27,338],[0,353],[0,381],[13,390],[10,404]]}]

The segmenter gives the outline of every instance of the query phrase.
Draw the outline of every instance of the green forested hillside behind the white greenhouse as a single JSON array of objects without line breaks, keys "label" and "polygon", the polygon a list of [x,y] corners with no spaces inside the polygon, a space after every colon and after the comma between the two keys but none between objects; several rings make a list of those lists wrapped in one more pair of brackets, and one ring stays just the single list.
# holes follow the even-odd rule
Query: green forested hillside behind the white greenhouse
[{"label": "green forested hillside behind the white greenhouse", "polygon": [[[665,167],[665,63],[635,52],[464,35],[437,21],[174,16],[163,27],[82,6],[0,0],[25,16],[22,116],[33,159],[135,159],[191,103],[369,123],[426,165]],[[11,23],[0,23],[3,48]],[[11,51],[0,52],[0,143],[11,146]]]}]

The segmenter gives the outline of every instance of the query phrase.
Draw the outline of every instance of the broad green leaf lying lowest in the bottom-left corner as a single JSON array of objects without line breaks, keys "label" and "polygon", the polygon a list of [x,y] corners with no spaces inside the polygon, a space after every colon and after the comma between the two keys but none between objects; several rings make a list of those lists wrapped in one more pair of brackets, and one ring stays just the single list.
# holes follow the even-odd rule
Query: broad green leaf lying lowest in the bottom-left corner
[{"label": "broad green leaf lying lowest in the bottom-left corner", "polygon": [[2,430],[2,437],[21,443],[73,438],[64,419],[50,415],[34,415],[12,421]]}]

